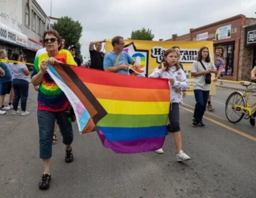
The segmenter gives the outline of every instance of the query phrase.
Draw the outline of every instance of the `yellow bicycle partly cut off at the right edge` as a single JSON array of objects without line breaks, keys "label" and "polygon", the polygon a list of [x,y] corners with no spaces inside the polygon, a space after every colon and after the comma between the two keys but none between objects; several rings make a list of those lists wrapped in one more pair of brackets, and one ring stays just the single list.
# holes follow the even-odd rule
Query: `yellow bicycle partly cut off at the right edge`
[{"label": "yellow bicycle partly cut off at the right edge", "polygon": [[[227,119],[232,123],[237,123],[240,120],[249,119],[256,110],[256,102],[254,104],[249,103],[249,90],[248,87],[255,85],[248,81],[240,81],[240,85],[246,87],[244,94],[241,92],[233,92],[228,96],[226,101],[225,111]],[[253,109],[253,106],[255,108]]]}]

